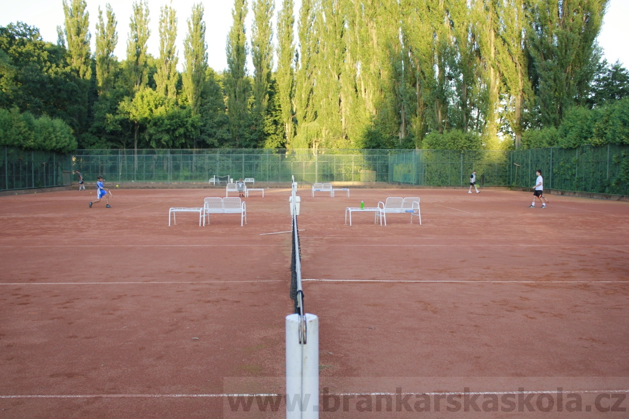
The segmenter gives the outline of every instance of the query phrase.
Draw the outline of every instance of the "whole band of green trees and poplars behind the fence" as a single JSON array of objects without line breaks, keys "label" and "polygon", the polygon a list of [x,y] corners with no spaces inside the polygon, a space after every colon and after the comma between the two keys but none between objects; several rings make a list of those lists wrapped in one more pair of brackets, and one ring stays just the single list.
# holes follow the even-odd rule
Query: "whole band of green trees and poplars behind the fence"
[{"label": "whole band of green trees and poplars behind the fence", "polygon": [[[91,52],[86,0],[64,0],[55,44],[26,23],[0,27],[0,109],[11,133],[2,141],[59,150],[623,142],[629,72],[596,44],[607,3],[302,0],[296,10],[283,0],[276,11],[270,0],[234,0],[228,68],[216,71],[201,3],[187,33],[163,6],[152,34],[148,4],[136,0],[119,59],[111,6],[99,9]],[[150,36],[159,57],[147,52]],[[33,142],[36,130],[59,145]]]}]

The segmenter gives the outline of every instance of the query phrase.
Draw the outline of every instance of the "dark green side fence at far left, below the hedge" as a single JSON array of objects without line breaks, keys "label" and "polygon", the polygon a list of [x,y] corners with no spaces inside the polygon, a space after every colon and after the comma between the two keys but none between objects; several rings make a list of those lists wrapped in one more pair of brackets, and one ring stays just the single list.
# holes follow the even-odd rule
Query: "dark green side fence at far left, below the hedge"
[{"label": "dark green side fence at far left, below the hedge", "polygon": [[0,191],[69,185],[71,170],[68,154],[0,147]]}]

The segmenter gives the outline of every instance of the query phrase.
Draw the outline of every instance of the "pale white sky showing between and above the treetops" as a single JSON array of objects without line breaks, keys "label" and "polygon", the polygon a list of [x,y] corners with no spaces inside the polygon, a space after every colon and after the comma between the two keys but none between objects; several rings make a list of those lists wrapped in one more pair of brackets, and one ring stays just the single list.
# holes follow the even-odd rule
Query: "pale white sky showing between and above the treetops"
[{"label": "pale white sky showing between and above the treetops", "polygon": [[[64,11],[61,0],[21,0],[9,1],[0,0],[0,26],[9,23],[23,21],[28,25],[36,26],[40,29],[44,40],[57,42],[57,25],[64,25]],[[192,10],[192,4],[199,0],[176,0],[172,2],[177,11],[177,51],[179,53],[179,69],[182,69],[183,60],[183,40],[187,33],[187,19]],[[125,59],[126,38],[131,16],[131,0],[87,0],[89,11],[89,26],[92,33],[92,51],[94,50],[94,33],[96,32],[96,21],[98,18],[99,6],[103,10],[105,4],[111,4],[118,20],[118,47],[116,56],[118,59]],[[214,70],[221,71],[227,67],[225,57],[225,45],[227,33],[231,27],[231,0],[201,0],[205,8],[204,18],[207,31],[206,40],[208,42],[208,64]],[[252,15],[251,3],[248,0],[249,13],[247,14],[247,36],[251,33]],[[295,1],[296,8],[301,1]],[[159,55],[159,15],[162,5],[167,4],[164,0],[148,0],[150,10],[150,30],[151,36],[148,40],[148,52],[153,56]],[[281,0],[276,0],[276,13],[281,7]],[[273,20],[275,24],[275,19]],[[603,29],[599,35],[598,42],[604,50],[604,57],[611,63],[620,60],[626,67],[629,67],[629,0],[610,0],[608,11],[605,14]],[[275,28],[274,28],[275,33]],[[252,72],[249,60],[249,72]]]}]

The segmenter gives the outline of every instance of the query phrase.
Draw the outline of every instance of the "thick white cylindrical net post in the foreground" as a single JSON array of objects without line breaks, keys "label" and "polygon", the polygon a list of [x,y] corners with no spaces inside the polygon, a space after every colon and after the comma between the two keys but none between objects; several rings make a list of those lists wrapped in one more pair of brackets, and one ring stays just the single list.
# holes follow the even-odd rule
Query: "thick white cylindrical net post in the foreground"
[{"label": "thick white cylindrical net post in the foreground", "polygon": [[318,419],[319,318],[305,315],[305,344],[299,342],[300,318],[286,316],[286,419]]}]

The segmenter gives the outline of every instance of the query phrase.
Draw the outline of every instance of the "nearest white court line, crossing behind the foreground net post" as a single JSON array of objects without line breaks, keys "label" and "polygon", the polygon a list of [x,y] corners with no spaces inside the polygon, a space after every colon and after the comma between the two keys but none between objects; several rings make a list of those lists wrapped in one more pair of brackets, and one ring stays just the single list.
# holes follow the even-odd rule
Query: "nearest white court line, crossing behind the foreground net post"
[{"label": "nearest white court line, crossing behind the foreground net post", "polygon": [[[629,393],[629,389],[606,390],[526,390],[526,391],[415,391],[403,393],[325,393],[330,396],[448,396],[450,394],[586,394],[586,393]],[[321,393],[323,394],[323,393]],[[0,395],[0,399],[87,399],[87,398],[223,398],[223,397],[277,397],[281,393],[223,393],[223,394],[11,394]]]}]

